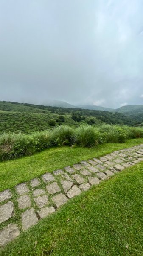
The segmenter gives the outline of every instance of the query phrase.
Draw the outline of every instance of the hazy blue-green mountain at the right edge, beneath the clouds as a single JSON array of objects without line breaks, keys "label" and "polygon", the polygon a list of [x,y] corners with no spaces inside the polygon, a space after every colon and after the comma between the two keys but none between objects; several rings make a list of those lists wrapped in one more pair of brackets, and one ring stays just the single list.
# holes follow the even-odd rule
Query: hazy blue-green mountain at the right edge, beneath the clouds
[{"label": "hazy blue-green mountain at the right edge, beneath the clouds", "polygon": [[143,105],[128,105],[117,108],[112,112],[122,113],[137,121],[138,124],[143,122]]}]

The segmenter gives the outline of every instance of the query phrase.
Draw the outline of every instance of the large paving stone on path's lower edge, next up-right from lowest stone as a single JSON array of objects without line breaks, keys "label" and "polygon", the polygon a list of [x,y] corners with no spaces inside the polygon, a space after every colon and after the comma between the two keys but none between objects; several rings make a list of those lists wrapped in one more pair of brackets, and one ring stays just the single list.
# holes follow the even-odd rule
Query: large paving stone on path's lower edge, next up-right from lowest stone
[{"label": "large paving stone on path's lower edge, next up-right from lowest stone", "polygon": [[29,227],[35,225],[38,222],[38,218],[33,208],[23,212],[21,216],[23,230],[27,230]]}]

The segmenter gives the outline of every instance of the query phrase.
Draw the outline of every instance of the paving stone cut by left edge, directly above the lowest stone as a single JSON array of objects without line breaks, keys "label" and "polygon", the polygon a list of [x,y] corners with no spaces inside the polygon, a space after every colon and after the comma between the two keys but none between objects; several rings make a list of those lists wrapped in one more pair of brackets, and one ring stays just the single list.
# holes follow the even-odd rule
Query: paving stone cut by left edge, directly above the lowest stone
[{"label": "paving stone cut by left edge, directly above the lowest stone", "polygon": [[0,223],[7,221],[9,218],[12,217],[14,212],[14,204],[13,202],[9,201],[6,204],[0,206]]}]

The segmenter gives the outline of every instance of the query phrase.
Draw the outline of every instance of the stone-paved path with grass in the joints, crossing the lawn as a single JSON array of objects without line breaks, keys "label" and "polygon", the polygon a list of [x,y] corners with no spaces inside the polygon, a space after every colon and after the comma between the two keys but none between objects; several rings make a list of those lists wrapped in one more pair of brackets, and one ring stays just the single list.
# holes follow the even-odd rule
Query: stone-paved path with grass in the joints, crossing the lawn
[{"label": "stone-paved path with grass in the joints, crossing the lawn", "polygon": [[45,173],[0,192],[0,246],[55,212],[70,198],[140,161],[143,144]]}]

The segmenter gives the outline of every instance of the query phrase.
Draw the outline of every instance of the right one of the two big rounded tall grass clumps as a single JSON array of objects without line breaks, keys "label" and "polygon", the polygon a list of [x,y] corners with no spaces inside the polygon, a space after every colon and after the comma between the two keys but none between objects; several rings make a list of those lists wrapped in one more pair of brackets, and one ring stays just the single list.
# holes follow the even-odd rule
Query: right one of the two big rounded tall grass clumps
[{"label": "right one of the two big rounded tall grass clumps", "polygon": [[93,147],[99,141],[98,131],[90,125],[81,125],[73,134],[74,143],[82,147]]}]

